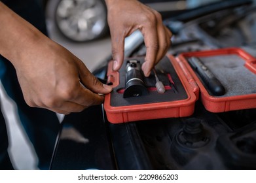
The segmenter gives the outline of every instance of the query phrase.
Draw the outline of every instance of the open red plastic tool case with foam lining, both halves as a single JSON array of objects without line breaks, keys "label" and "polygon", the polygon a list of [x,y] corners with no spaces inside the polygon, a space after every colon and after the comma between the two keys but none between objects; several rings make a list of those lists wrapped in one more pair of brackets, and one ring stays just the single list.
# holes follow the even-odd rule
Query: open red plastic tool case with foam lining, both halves
[{"label": "open red plastic tool case with foam lining, both halves", "polygon": [[[208,90],[188,63],[191,57],[200,58],[221,81],[226,90],[224,95],[216,96]],[[143,58],[127,59],[143,62]],[[113,92],[105,96],[104,108],[107,119],[113,124],[191,116],[198,99],[210,112],[256,108],[256,58],[241,48],[187,52],[177,57],[167,55],[156,65],[157,75],[166,88],[164,94],[156,92],[152,73],[145,78],[149,95],[123,98],[125,66],[118,72],[112,68],[110,61],[107,77]]]}]

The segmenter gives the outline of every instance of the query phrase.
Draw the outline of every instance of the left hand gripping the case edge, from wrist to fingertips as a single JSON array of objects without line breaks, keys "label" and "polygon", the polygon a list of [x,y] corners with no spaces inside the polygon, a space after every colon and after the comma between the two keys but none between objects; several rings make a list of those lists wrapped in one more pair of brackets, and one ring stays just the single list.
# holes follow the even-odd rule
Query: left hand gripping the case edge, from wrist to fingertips
[{"label": "left hand gripping the case edge, from wrist to fingertips", "polygon": [[110,86],[102,84],[79,58],[62,46],[49,41],[37,47],[15,65],[24,99],[30,107],[48,108],[61,114],[80,112],[103,102],[104,96],[98,93],[111,92]]}]

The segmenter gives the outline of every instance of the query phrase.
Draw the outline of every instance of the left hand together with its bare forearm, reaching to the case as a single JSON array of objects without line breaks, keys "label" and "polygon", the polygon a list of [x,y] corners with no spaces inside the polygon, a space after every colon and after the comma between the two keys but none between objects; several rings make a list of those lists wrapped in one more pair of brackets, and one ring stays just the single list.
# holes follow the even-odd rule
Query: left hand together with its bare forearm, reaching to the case
[{"label": "left hand together with its bare forearm, reaching to the case", "polygon": [[14,65],[29,106],[69,114],[102,103],[103,95],[111,92],[79,58],[1,1],[0,22],[0,54]]}]

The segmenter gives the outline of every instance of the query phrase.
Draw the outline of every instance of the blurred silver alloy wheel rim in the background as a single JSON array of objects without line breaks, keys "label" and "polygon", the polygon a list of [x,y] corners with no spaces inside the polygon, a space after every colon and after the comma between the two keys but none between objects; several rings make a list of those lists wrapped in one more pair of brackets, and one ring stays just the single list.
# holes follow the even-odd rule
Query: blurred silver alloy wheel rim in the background
[{"label": "blurred silver alloy wheel rim in the background", "polygon": [[54,20],[67,39],[86,42],[107,35],[107,7],[103,0],[59,0]]}]

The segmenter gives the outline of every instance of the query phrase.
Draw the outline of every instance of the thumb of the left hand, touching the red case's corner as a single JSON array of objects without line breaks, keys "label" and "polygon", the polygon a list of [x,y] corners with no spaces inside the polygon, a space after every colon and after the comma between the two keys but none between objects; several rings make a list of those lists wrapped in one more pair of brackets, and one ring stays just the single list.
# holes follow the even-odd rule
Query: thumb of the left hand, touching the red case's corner
[{"label": "thumb of the left hand, touching the red case's corner", "polygon": [[79,78],[80,78],[80,82],[86,88],[88,88],[88,90],[94,93],[107,94],[112,91],[111,86],[108,86],[100,82],[100,80],[98,80],[96,76],[90,73],[90,71],[87,69],[87,67],[84,64],[81,64],[81,67],[79,67]]}]

